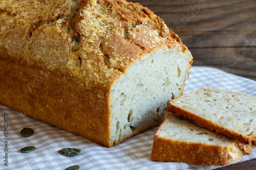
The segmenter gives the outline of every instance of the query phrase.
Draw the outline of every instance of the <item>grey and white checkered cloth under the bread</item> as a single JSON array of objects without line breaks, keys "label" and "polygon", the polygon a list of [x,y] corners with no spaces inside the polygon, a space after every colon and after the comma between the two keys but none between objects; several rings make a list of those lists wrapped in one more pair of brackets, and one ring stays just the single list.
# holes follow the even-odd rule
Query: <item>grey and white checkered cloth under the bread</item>
[{"label": "grey and white checkered cloth under the bread", "polygon": [[[216,68],[193,66],[186,81],[184,93],[203,87],[216,87],[256,96],[256,82],[228,74]],[[143,132],[114,148],[106,148],[84,137],[48,125],[0,105],[1,158],[0,169],[65,169],[79,165],[80,169],[214,169],[219,166],[194,166],[187,163],[157,162],[151,160],[151,150],[157,127]],[[4,165],[4,113],[8,113],[8,166]],[[20,136],[23,128],[32,128],[34,134]],[[31,153],[20,153],[21,148],[34,145]],[[78,148],[80,155],[69,157],[59,154],[62,148]],[[242,161],[256,158],[256,148]]]}]

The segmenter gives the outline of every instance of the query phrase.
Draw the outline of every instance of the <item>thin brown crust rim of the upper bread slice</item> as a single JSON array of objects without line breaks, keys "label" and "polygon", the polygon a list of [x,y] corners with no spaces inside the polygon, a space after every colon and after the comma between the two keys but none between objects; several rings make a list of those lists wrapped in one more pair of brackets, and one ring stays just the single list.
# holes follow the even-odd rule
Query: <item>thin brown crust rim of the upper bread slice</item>
[{"label": "thin brown crust rim of the upper bread slice", "polygon": [[[201,89],[198,89],[197,91],[204,91],[204,90],[207,90],[207,88],[201,88]],[[226,91],[226,90],[223,90],[223,91]],[[193,93],[193,92],[191,92],[191,93]],[[191,94],[191,93],[189,93],[189,94]],[[245,95],[243,93],[238,93],[238,94]],[[256,100],[252,96],[250,96],[250,98],[252,100]],[[256,135],[248,136],[248,135],[243,135],[241,133],[234,132],[234,131],[232,131],[228,128],[225,128],[225,127],[220,126],[218,124],[212,123],[207,118],[199,116],[199,115],[197,115],[193,112],[187,111],[184,108],[180,108],[180,107],[176,106],[175,103],[173,103],[172,101],[170,101],[170,103],[167,104],[167,108],[168,108],[169,112],[172,112],[172,113],[174,113],[175,115],[177,115],[179,117],[184,117],[186,119],[189,119],[189,120],[193,121],[195,124],[197,124],[201,127],[207,128],[211,131],[216,131],[216,133],[219,133],[219,134],[222,134],[222,135],[227,136],[229,138],[238,140],[241,143],[251,144],[252,141],[256,140]]]}]

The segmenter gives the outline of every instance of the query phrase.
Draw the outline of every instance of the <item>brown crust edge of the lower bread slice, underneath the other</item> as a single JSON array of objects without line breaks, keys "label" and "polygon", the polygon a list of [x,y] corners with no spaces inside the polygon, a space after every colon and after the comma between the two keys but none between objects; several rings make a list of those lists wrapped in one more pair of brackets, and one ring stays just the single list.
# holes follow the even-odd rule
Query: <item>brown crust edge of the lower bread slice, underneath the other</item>
[{"label": "brown crust edge of the lower bread slice, underneath the other", "polygon": [[[225,165],[228,163],[239,161],[241,155],[250,154],[251,146],[242,146],[239,142],[234,141],[233,143],[222,146],[207,143],[188,142],[173,140],[170,138],[164,138],[159,136],[159,132],[165,126],[169,114],[158,128],[153,143],[153,149],[151,158],[157,161],[168,161],[168,162],[187,162],[193,165]],[[246,148],[246,149],[243,149]]]}]

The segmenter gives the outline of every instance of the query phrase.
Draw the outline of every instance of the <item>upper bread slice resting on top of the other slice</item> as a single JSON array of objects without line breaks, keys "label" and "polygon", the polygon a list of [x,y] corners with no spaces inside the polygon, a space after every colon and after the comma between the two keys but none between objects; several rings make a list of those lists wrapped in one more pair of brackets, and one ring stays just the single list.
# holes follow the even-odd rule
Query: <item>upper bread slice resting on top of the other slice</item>
[{"label": "upper bread slice resting on top of the other slice", "polygon": [[245,144],[256,140],[256,99],[243,93],[203,88],[172,100],[168,111]]}]

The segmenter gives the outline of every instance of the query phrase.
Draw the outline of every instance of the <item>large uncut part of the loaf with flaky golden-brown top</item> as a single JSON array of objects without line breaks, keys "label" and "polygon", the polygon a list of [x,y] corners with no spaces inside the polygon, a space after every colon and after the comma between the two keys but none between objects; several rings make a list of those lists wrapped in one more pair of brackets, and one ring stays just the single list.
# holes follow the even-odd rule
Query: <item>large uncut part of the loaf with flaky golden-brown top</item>
[{"label": "large uncut part of the loaf with flaky golden-brown top", "polygon": [[191,63],[139,4],[0,2],[0,104],[106,147],[160,125]]}]

